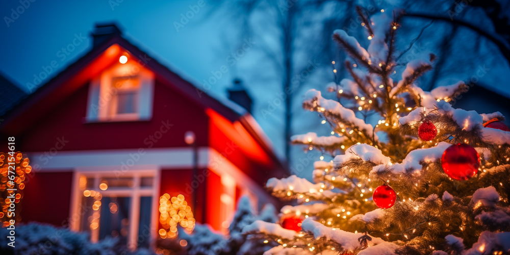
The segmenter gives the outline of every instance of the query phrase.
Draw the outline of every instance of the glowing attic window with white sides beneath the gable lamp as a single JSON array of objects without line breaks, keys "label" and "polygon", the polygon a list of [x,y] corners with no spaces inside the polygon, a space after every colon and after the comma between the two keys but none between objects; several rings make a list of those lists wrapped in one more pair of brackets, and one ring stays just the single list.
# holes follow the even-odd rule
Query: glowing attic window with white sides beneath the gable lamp
[{"label": "glowing attic window with white sides beneath the gable lamp", "polygon": [[88,122],[139,121],[152,116],[154,73],[132,57],[117,59],[90,83]]}]

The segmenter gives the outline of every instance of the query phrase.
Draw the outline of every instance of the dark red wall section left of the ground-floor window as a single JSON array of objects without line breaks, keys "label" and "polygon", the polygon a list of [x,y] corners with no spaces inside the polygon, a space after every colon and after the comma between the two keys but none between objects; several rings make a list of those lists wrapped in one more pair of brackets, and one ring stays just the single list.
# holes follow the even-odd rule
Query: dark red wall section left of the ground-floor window
[{"label": "dark red wall section left of the ground-floor window", "polygon": [[25,183],[21,221],[67,226],[71,201],[71,171],[38,172]]}]

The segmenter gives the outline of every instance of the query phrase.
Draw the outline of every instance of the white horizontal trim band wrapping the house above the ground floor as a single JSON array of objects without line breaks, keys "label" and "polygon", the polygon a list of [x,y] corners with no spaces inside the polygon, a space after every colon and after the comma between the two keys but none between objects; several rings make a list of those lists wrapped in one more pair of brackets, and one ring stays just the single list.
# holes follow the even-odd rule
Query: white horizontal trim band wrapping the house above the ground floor
[{"label": "white horizontal trim band wrapping the house above the ground floor", "polygon": [[[59,171],[121,171],[124,164],[129,170],[182,169],[193,167],[193,149],[190,147],[113,150],[58,151],[52,158],[44,152],[29,152],[30,164],[36,172]],[[47,153],[47,152],[46,152]],[[138,157],[139,156],[139,157]],[[135,159],[138,159],[135,161]],[[35,167],[36,165],[39,168]],[[219,176],[228,174],[243,189],[249,189],[258,197],[272,200],[265,190],[246,173],[223,157],[217,150],[202,146],[198,148],[198,168],[208,168]],[[246,191],[243,189],[243,192]]]}]

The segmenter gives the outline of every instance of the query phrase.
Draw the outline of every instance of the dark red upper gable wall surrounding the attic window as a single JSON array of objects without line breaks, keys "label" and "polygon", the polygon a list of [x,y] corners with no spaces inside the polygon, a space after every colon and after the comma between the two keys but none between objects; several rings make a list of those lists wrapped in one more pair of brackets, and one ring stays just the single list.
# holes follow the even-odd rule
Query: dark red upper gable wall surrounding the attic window
[{"label": "dark red upper gable wall surrounding the attic window", "polygon": [[[199,106],[193,105],[171,88],[156,82],[152,119],[135,122],[84,123],[88,85],[62,101],[60,105],[39,118],[17,139],[22,151],[48,151],[62,138],[68,142],[61,150],[151,148],[188,146],[184,133],[193,131],[199,146],[207,145],[208,117]],[[154,136],[163,126],[172,125],[156,142]],[[60,147],[60,146],[59,146]]]}]

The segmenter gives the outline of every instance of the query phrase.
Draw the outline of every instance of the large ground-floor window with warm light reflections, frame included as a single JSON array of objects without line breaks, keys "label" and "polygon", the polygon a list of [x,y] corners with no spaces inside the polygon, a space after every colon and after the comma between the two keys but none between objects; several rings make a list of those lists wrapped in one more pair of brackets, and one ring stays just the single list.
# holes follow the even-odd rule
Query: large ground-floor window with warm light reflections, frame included
[{"label": "large ground-floor window with warm light reflections, frame included", "polygon": [[90,233],[92,242],[116,237],[130,248],[149,248],[156,213],[154,174],[130,170],[115,176],[113,172],[79,174],[79,231]]}]

